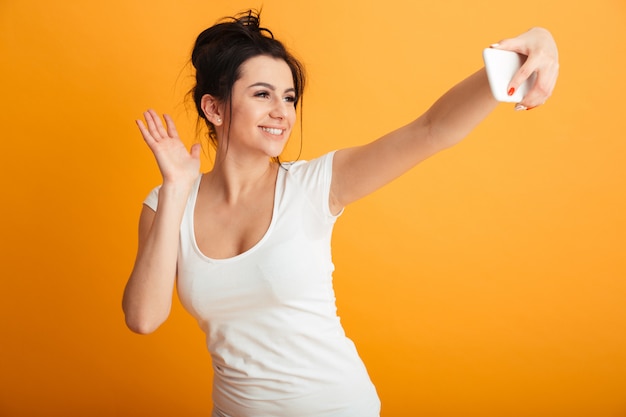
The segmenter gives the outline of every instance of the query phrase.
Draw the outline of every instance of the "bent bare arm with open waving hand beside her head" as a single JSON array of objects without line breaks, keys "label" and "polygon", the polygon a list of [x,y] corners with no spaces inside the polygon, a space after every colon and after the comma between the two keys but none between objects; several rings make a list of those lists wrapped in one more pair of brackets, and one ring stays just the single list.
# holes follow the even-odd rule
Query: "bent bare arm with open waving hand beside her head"
[{"label": "bent bare arm with open waving hand beside her head", "polygon": [[136,333],[151,333],[169,316],[176,278],[180,223],[187,198],[200,170],[199,146],[188,152],[172,120],[167,129],[154,111],[137,124],[163,175],[157,211],[144,206],[139,220],[139,246],[124,290],[126,325]]}]

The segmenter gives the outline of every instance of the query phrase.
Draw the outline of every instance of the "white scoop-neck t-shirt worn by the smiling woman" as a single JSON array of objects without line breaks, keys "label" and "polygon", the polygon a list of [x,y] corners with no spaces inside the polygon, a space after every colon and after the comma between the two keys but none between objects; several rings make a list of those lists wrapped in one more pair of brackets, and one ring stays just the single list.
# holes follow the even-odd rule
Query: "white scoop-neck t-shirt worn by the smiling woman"
[{"label": "white scoop-neck t-shirt worn by the smiling woman", "polygon": [[[214,416],[379,416],[376,390],[335,306],[333,155],[283,164],[266,234],[232,258],[200,252],[193,228],[200,177],[189,196],[178,293],[207,336]],[[157,192],[145,201],[153,209]]]}]

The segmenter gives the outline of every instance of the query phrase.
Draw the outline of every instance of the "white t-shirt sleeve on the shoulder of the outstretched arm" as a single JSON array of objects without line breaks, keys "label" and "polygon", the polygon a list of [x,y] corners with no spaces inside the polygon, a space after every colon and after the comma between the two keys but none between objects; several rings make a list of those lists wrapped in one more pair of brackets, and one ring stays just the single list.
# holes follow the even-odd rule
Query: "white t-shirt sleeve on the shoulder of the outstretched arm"
[{"label": "white t-shirt sleeve on the shoulder of the outstretched arm", "polygon": [[310,161],[298,161],[290,166],[289,174],[298,181],[305,190],[311,204],[325,218],[334,220],[342,213],[334,215],[330,212],[330,185],[333,177],[333,157],[335,151],[329,152]]}]

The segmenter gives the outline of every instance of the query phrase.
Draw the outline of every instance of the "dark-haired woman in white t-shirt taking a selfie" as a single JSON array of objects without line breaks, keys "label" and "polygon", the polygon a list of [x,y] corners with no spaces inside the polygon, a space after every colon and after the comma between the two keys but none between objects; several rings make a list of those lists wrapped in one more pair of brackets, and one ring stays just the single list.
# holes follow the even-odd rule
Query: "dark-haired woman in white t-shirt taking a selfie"
[{"label": "dark-haired woman in white t-shirt taking a selfie", "polygon": [[[336,315],[330,238],[343,208],[459,142],[497,105],[481,69],[426,113],[382,138],[312,161],[278,160],[304,89],[298,61],[249,12],[200,34],[193,53],[199,116],[216,147],[199,174],[169,116],[139,130],[163,183],[146,199],[139,249],[124,293],[128,327],[153,332],[174,283],[205,331],[214,416],[378,416],[380,402]],[[495,46],[529,56],[519,106],[542,104],[558,73],[545,29]]]}]

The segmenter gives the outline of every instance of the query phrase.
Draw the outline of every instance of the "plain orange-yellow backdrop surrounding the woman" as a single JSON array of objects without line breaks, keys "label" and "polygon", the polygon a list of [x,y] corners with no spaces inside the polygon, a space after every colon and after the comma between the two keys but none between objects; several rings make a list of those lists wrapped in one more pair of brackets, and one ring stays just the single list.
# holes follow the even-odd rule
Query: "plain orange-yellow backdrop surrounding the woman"
[{"label": "plain orange-yellow backdrop surrounding the woman", "polygon": [[[626,3],[262,4],[309,73],[305,159],[416,117],[490,43],[552,30],[546,106],[501,105],[347,209],[339,313],[383,417],[626,415]],[[209,357],[180,305],[153,335],[124,326],[138,214],[160,181],[134,119],[169,112],[191,144],[195,36],[260,5],[0,2],[0,415],[208,415]]]}]

